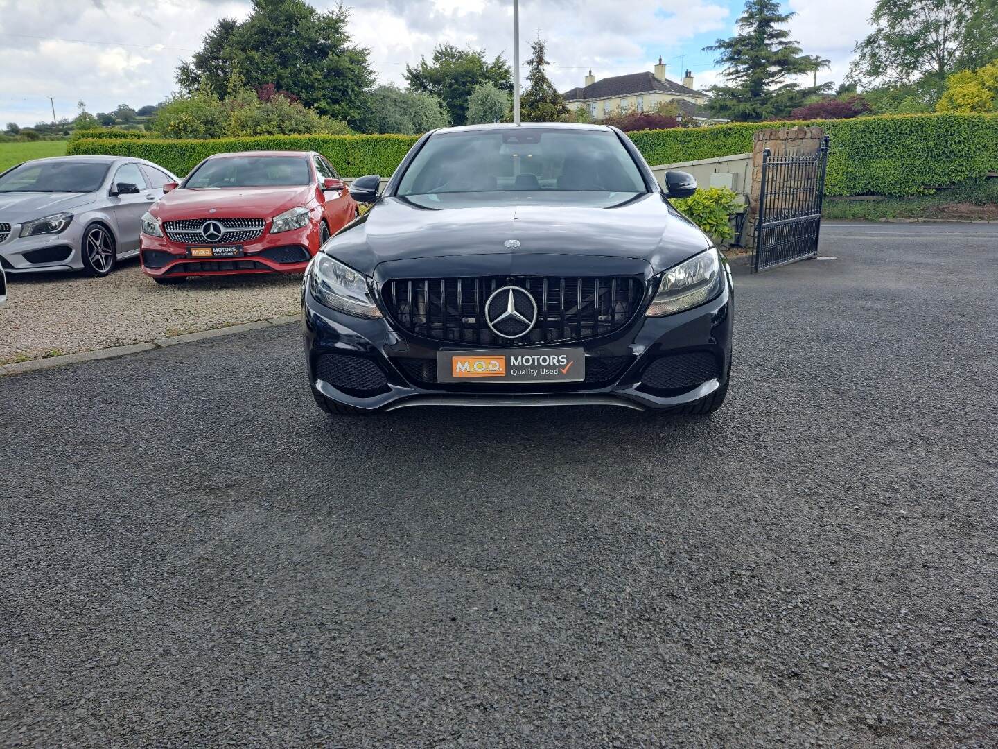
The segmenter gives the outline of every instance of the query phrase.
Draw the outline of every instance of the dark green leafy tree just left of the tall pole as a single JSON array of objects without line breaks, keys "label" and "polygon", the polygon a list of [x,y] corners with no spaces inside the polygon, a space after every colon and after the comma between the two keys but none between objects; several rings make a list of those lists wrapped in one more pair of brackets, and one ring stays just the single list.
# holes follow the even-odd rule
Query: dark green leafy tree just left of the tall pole
[{"label": "dark green leafy tree just left of the tall pole", "polygon": [[502,91],[512,92],[512,76],[502,55],[490,63],[485,60],[484,50],[461,49],[453,44],[437,46],[432,63],[420,58],[418,66],[405,66],[409,88],[443,101],[454,125],[467,123],[468,99],[476,86],[489,82]]}]

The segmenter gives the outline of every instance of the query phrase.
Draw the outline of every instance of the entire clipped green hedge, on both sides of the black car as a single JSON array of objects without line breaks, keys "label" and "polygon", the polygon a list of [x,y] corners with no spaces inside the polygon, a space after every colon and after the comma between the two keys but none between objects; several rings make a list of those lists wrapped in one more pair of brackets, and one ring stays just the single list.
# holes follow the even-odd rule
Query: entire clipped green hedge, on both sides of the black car
[{"label": "entire clipped green hedge, on both sides of the black car", "polygon": [[[998,115],[883,115],[852,120],[738,123],[645,130],[630,136],[649,164],[674,164],[747,153],[756,130],[794,125],[820,125],[831,138],[827,195],[925,195],[936,187],[979,180],[988,172],[998,171]],[[318,151],[345,177],[387,177],[417,138],[275,135],[175,141],[148,138],[145,134],[134,137],[136,131],[98,132],[102,134],[99,138],[72,140],[67,153],[136,156],[178,175],[186,175],[212,154],[276,149]]]}]

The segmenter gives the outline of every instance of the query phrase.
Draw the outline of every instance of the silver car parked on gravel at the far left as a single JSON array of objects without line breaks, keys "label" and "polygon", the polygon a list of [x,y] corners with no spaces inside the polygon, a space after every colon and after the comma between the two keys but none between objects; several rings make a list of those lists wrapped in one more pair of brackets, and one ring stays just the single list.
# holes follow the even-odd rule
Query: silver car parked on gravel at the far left
[{"label": "silver car parked on gravel at the far left", "polygon": [[142,217],[180,180],[120,156],[36,159],[0,175],[0,267],[8,275],[87,271],[107,276],[139,254]]}]

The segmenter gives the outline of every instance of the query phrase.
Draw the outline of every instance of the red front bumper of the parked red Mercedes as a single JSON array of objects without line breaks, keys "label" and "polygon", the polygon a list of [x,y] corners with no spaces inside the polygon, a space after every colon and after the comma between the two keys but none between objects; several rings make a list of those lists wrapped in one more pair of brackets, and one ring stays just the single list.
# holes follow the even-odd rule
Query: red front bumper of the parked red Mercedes
[{"label": "red front bumper of the parked red Mercedes", "polygon": [[318,231],[311,225],[279,234],[264,230],[251,242],[234,244],[243,247],[241,257],[189,258],[189,245],[143,234],[142,272],[153,278],[303,273],[318,251]]}]

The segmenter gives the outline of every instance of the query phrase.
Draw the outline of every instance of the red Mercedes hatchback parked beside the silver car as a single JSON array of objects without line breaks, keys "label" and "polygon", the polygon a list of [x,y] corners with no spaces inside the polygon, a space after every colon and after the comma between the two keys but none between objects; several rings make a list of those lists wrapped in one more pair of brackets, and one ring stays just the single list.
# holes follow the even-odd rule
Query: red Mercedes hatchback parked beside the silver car
[{"label": "red Mercedes hatchback parked beside the silver car", "polygon": [[357,216],[329,162],[305,151],[210,156],[164,192],[142,219],[142,270],[158,284],[301,273]]}]

